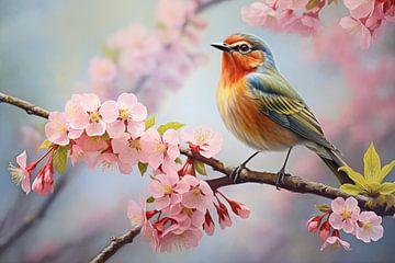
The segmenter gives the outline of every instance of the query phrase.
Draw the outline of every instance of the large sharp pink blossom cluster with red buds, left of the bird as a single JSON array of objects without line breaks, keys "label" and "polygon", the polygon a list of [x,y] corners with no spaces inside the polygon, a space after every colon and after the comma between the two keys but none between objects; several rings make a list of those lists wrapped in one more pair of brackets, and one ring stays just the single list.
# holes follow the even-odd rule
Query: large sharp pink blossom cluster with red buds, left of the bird
[{"label": "large sharp pink blossom cluster with red buds, left of the bird", "polygon": [[[195,247],[202,237],[214,232],[211,210],[216,210],[221,228],[232,226],[227,206],[241,218],[249,208],[211,188],[198,178],[205,174],[202,162],[180,156],[180,144],[194,155],[212,158],[219,152],[223,139],[211,128],[185,127],[181,135],[179,123],[168,123],[154,128],[155,118],[147,118],[147,108],[132,93],[122,93],[116,101],[101,102],[93,93],[74,94],[64,112],[52,112],[45,125],[45,140],[38,148],[46,152],[26,163],[26,151],[16,158],[18,167],[10,164],[12,180],[29,194],[54,191],[55,170],[63,173],[68,159],[71,164],[86,162],[91,169],[114,167],[129,174],[138,167],[142,174],[150,168],[148,193],[140,204],[131,203],[128,217],[140,225],[142,233],[155,250]],[[37,165],[46,160],[36,173]],[[153,205],[147,210],[147,204]]]}]

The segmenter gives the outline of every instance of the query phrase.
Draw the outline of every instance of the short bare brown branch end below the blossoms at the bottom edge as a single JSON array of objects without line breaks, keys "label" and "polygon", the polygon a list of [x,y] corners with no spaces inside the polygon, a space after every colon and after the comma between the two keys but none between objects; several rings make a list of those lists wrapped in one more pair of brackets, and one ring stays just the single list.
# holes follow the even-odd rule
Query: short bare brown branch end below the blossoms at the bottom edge
[{"label": "short bare brown branch end below the blossoms at the bottom edge", "polygon": [[132,230],[125,232],[121,237],[113,237],[111,242],[105,245],[98,255],[95,255],[90,263],[102,263],[115,254],[122,247],[127,243],[132,243],[134,238],[140,232],[140,227],[135,227]]}]

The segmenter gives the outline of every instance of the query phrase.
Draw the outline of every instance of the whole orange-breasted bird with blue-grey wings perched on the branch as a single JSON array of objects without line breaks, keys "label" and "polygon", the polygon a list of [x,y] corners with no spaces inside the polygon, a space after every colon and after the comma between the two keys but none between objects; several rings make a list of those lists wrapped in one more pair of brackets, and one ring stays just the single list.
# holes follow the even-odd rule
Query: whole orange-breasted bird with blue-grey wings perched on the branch
[{"label": "whole orange-breasted bird with blue-grey wings perched on the branch", "polygon": [[237,181],[246,164],[261,151],[287,149],[276,173],[275,186],[284,182],[291,150],[303,145],[318,155],[340,184],[352,183],[339,171],[346,165],[340,151],[329,142],[312,110],[275,67],[273,54],[259,36],[248,33],[229,35],[212,43],[222,52],[222,70],[216,102],[225,126],[256,150],[238,165],[230,178]]}]

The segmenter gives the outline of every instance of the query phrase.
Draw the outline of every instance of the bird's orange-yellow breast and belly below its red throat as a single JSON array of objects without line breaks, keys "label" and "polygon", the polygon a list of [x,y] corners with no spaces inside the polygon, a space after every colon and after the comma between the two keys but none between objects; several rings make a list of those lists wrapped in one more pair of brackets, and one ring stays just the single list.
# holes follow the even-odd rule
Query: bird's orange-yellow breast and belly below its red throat
[{"label": "bird's orange-yellow breast and belly below its red throat", "polygon": [[300,137],[260,112],[244,78],[219,81],[217,106],[226,127],[257,150],[283,150],[300,142]]}]

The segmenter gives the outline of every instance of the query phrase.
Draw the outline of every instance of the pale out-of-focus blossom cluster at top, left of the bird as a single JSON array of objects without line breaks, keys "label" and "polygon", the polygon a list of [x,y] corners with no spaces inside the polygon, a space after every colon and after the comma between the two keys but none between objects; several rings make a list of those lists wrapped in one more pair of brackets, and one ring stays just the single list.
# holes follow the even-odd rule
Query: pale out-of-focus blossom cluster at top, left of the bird
[{"label": "pale out-of-focus blossom cluster at top, left of the bird", "polygon": [[181,88],[184,78],[206,61],[194,48],[199,31],[205,27],[196,16],[203,3],[159,0],[155,28],[132,23],[110,35],[103,55],[90,62],[90,90],[102,98],[138,93],[154,111],[166,92]]}]

